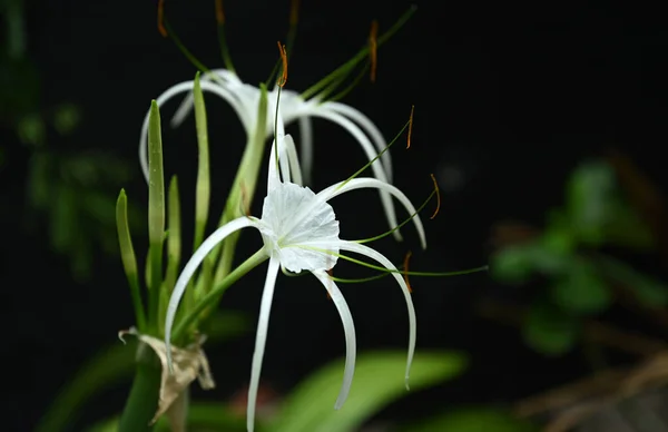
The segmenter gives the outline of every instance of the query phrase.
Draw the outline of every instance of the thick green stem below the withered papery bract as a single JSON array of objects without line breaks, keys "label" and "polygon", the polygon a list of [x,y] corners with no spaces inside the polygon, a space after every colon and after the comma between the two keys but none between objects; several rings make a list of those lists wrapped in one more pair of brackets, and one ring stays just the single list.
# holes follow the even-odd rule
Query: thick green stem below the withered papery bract
[{"label": "thick green stem below the withered papery bract", "polygon": [[141,343],[137,351],[137,370],[132,389],[120,415],[119,432],[153,431],[158,410],[161,366],[154,351]]}]

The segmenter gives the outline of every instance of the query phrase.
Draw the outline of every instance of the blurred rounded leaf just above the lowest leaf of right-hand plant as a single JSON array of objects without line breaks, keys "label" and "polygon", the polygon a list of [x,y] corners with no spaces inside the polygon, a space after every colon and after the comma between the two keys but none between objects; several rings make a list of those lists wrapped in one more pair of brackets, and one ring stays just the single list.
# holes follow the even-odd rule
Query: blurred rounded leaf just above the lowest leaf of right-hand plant
[{"label": "blurred rounded leaf just above the lowest leaf of right-hand plant", "polygon": [[561,308],[578,314],[601,312],[612,302],[606,282],[584,259],[574,262],[569,272],[552,281],[550,294]]}]

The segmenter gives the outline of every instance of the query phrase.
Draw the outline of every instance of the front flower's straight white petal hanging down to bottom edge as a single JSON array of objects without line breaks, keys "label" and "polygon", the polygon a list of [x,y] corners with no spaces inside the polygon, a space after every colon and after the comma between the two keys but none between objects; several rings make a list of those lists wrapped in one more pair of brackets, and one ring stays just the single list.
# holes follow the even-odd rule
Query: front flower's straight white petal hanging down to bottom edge
[{"label": "front flower's straight white petal hanging down to bottom edge", "polygon": [[253,432],[255,428],[255,404],[257,403],[257,387],[259,386],[259,373],[262,371],[262,360],[264,357],[265,344],[267,342],[267,330],[269,326],[269,314],[272,312],[272,301],[274,298],[274,287],[276,286],[276,276],[281,262],[272,256],[265,287],[259,303],[259,318],[257,320],[257,332],[255,333],[255,351],[253,352],[253,364],[250,366],[250,384],[248,385],[248,405],[246,408],[246,428]]}]

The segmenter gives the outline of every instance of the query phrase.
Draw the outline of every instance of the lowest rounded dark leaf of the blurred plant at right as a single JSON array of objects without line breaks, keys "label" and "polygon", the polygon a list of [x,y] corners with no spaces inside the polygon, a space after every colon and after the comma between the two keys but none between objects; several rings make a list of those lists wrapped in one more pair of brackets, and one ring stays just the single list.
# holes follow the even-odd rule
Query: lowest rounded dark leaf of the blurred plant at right
[{"label": "lowest rounded dark leaf of the blurred plant at right", "polygon": [[546,355],[567,353],[578,338],[578,321],[547,302],[531,305],[522,332],[533,350]]}]

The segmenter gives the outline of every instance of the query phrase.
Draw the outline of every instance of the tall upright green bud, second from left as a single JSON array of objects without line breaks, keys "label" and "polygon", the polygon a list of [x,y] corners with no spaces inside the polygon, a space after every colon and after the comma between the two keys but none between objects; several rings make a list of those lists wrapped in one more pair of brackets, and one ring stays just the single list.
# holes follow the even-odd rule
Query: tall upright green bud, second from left
[{"label": "tall upright green bud, second from left", "polygon": [[149,322],[156,325],[163,282],[163,239],[165,236],[165,176],[163,168],[163,138],[160,111],[150,102],[148,119],[148,240],[150,263]]}]

